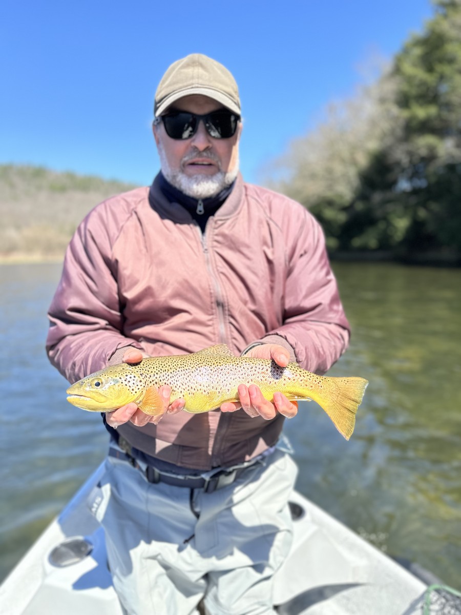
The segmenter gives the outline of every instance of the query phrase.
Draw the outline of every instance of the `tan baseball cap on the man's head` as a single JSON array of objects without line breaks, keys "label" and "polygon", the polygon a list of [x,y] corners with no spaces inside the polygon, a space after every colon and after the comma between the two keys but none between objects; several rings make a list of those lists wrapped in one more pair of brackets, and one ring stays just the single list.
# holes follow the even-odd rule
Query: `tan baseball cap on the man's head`
[{"label": "tan baseball cap on the man's head", "polygon": [[157,87],[154,114],[159,117],[178,98],[202,94],[240,115],[238,87],[225,66],[203,54],[173,62]]}]

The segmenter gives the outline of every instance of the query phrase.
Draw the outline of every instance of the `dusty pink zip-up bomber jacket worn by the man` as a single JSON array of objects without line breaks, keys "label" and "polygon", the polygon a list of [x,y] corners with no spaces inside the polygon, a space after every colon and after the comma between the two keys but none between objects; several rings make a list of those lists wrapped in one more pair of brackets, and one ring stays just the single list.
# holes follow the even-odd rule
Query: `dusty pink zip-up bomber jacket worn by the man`
[{"label": "dusty pink zip-up bomber jacket worn by the man", "polygon": [[[319,224],[241,177],[204,236],[157,181],[150,202],[138,188],[95,207],[69,244],[49,319],[47,352],[70,382],[119,362],[126,346],[160,356],[227,343],[240,354],[263,339],[325,373],[349,341]],[[118,431],[152,456],[207,470],[272,446],[282,423],[214,410]]]}]

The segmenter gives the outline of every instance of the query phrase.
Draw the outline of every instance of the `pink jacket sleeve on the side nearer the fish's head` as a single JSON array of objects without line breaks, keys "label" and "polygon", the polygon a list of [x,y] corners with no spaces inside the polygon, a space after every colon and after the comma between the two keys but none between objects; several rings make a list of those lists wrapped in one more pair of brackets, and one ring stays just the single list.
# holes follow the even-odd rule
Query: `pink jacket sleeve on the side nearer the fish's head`
[{"label": "pink jacket sleeve on the side nearer the fish's head", "polygon": [[110,221],[102,218],[93,210],[74,234],[48,314],[47,353],[71,383],[106,367],[117,349],[142,350],[122,333]]}]

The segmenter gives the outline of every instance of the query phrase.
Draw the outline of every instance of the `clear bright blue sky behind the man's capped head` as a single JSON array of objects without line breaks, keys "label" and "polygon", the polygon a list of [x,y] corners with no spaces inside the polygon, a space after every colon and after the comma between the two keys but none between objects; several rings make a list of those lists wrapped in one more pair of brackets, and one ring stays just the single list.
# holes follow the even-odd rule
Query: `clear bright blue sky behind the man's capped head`
[{"label": "clear bright blue sky behind the man's capped head", "polygon": [[329,101],[352,95],[369,58],[391,58],[432,14],[430,0],[4,0],[0,163],[150,183],[157,84],[200,52],[237,79],[241,169],[256,182]]}]

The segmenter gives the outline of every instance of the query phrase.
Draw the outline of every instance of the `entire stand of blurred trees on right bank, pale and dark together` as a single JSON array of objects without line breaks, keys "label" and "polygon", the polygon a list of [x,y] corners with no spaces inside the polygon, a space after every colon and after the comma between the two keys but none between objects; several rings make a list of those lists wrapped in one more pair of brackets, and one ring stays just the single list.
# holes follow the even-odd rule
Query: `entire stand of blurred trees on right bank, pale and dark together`
[{"label": "entire stand of blurred trees on right bank, pale and dark together", "polygon": [[277,188],[339,250],[461,253],[461,0],[434,17],[374,84],[291,144]]}]

